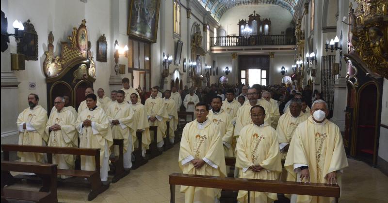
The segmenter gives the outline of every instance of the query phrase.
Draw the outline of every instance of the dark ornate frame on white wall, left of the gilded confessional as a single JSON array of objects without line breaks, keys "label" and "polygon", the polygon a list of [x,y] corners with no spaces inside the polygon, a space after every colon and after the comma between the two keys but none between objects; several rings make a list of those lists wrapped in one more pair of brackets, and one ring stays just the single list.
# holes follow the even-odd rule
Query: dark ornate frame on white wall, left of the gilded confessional
[{"label": "dark ornate frame on white wall, left of the gilded confessional", "polygon": [[17,43],[18,54],[24,54],[26,60],[38,60],[38,34],[30,20],[23,23],[23,38]]}]

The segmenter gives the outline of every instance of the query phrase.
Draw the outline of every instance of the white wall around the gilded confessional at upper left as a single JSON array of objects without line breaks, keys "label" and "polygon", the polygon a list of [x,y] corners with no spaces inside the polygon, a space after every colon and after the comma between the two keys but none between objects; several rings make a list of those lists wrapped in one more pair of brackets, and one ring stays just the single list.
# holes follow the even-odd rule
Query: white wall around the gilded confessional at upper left
[{"label": "white wall around the gilded confessional at upper left", "polygon": [[[7,0],[2,0],[1,2]],[[42,7],[44,5],[44,7]],[[43,61],[46,58],[44,52],[47,51],[48,34],[52,31],[54,35],[54,54],[60,54],[60,41],[67,41],[67,36],[71,35],[73,27],[81,24],[82,19],[86,19],[88,29],[88,40],[92,43],[92,54],[96,59],[96,44],[100,35],[105,33],[107,41],[110,42],[110,1],[90,0],[83,3],[80,0],[9,0],[8,1],[8,31],[12,32],[12,22],[18,19],[22,22],[31,20],[38,34],[38,60],[25,61],[26,70],[16,71],[16,77],[20,81],[19,85],[19,110],[28,107],[27,96],[29,93],[39,95],[39,104],[47,107],[46,76],[43,72]],[[16,42],[10,38],[10,51],[16,53]],[[111,46],[108,43],[108,48]],[[95,88],[108,89],[108,79],[110,73],[111,49],[108,49],[106,63],[96,62],[97,80]],[[10,60],[10,58],[8,58]],[[36,82],[36,89],[29,90],[29,82]],[[50,107],[49,107],[50,108]]]}]

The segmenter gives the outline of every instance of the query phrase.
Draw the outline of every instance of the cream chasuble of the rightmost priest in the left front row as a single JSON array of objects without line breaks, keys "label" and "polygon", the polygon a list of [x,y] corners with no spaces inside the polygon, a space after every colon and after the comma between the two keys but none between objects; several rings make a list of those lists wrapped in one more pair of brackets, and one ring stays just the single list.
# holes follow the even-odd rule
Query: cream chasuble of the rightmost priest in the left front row
[{"label": "cream chasuble of the rightmost priest in the left front row", "polygon": [[[92,126],[82,127],[84,120],[91,120]],[[113,145],[112,131],[105,111],[97,106],[93,111],[83,110],[78,116],[76,129],[80,133],[80,147],[99,148],[100,166],[103,159],[109,158],[109,147]],[[81,156],[81,170],[94,171],[96,163],[92,156]]]}]

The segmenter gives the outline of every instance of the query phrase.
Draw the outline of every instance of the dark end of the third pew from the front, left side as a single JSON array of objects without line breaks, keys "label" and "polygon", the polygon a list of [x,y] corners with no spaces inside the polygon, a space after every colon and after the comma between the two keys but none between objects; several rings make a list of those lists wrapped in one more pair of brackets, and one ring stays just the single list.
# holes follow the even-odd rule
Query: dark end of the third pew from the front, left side
[{"label": "dark end of the third pew from the front, left side", "polygon": [[119,156],[110,158],[113,167],[111,167],[110,173],[113,173],[112,183],[116,183],[122,177],[129,174],[129,169],[124,169],[124,139],[113,139],[113,146],[118,145]]}]

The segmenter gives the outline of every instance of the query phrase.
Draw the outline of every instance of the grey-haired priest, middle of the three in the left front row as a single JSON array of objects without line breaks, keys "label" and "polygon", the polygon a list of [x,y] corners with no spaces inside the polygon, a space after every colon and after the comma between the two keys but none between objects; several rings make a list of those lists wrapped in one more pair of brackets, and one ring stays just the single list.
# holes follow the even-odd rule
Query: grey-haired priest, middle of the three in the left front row
[{"label": "grey-haired priest, middle of the three in the left front row", "polygon": [[[75,128],[77,118],[65,107],[65,99],[57,97],[54,100],[55,110],[51,112],[46,124],[45,133],[49,136],[48,146],[78,147],[78,133]],[[59,169],[74,169],[74,155],[53,154],[52,163]],[[67,176],[61,175],[62,178]]]}]

